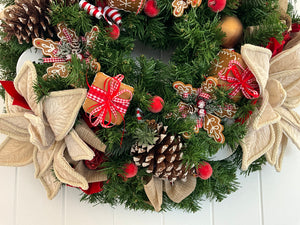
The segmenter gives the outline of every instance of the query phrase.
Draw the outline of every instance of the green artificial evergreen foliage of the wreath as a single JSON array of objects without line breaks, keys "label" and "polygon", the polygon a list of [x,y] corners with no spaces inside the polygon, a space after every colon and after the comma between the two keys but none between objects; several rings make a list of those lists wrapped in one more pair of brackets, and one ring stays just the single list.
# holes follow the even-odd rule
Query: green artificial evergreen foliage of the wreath
[{"label": "green artificial evergreen foliage of the wreath", "polygon": [[[13,4],[10,0],[1,0],[1,3]],[[90,3],[95,4],[94,1]],[[202,200],[221,201],[237,190],[239,184],[236,174],[242,161],[239,143],[247,132],[247,123],[243,121],[259,107],[259,103],[255,105],[253,100],[246,98],[235,103],[228,98],[231,90],[226,88],[218,87],[213,91],[215,100],[211,107],[232,104],[238,108],[233,119],[221,120],[226,140],[221,144],[209,137],[204,129],[200,128],[199,132],[195,133],[195,120],[180,116],[178,103],[181,99],[172,88],[172,84],[179,80],[195,88],[201,87],[210,73],[211,62],[217,59],[217,54],[222,49],[222,38],[225,35],[220,28],[222,17],[235,15],[243,23],[244,38],[239,45],[251,43],[266,46],[271,37],[280,41],[286,26],[280,23],[276,0],[227,0],[225,10],[220,13],[212,12],[207,6],[207,1],[203,1],[198,8],[186,9],[180,18],[173,16],[171,1],[157,0],[157,3],[160,13],[155,18],[149,18],[143,13],[135,15],[120,12],[122,27],[117,40],[113,40],[107,34],[108,25],[104,19],[91,17],[85,11],[79,10],[77,4],[70,5],[66,1],[53,1],[51,4],[49,17],[53,26],[65,22],[78,36],[84,36],[94,25],[99,26],[100,32],[93,41],[89,53],[101,64],[102,72],[111,77],[124,74],[122,82],[134,88],[134,95],[124,118],[125,123],[109,129],[97,127],[96,135],[106,145],[107,161],[101,165],[101,170],[107,174],[108,180],[104,182],[103,191],[83,195],[82,200],[92,204],[121,203],[130,209],[153,210],[147,202],[148,198],[144,191],[144,185],[151,178],[146,169],[139,168],[133,178],[122,177],[122,165],[132,161],[130,152],[132,146],[137,142],[153,144],[156,135],[145,123],[137,120],[136,109],[140,108],[143,111],[143,121],[155,120],[164,124],[168,127],[168,134],[191,134],[189,139],[181,139],[182,163],[187,168],[193,168],[203,160],[211,164],[214,171],[212,177],[208,180],[197,179],[195,190],[180,203],[175,204],[165,193],[163,194],[162,210],[179,208],[195,212],[201,208]],[[289,12],[292,13],[292,9],[289,9]],[[294,21],[298,18],[296,15],[293,16]],[[252,33],[246,32],[249,26],[255,27]],[[5,33],[1,34],[2,38],[5,36]],[[50,38],[50,35],[45,34],[45,38]],[[58,38],[54,37],[54,40]],[[137,40],[154,49],[171,51],[169,62],[164,63],[144,55],[132,57]],[[9,42],[0,43],[1,79],[14,79],[17,59],[31,46],[31,43],[19,44],[15,37]],[[67,78],[54,76],[43,79],[47,66],[49,65],[36,65],[38,80],[34,84],[34,90],[38,96],[37,101],[47,98],[52,91],[78,87],[88,89],[87,82],[92,84],[95,76],[95,72],[76,55],[72,55],[72,59],[67,62],[69,71]],[[163,110],[156,114],[148,110],[151,97],[155,95],[164,99]],[[81,111],[78,119],[83,117],[85,112]],[[226,144],[235,151],[234,154],[225,160],[212,161],[212,156]],[[265,162],[265,158],[262,157],[244,173],[248,175],[260,170]]]}]

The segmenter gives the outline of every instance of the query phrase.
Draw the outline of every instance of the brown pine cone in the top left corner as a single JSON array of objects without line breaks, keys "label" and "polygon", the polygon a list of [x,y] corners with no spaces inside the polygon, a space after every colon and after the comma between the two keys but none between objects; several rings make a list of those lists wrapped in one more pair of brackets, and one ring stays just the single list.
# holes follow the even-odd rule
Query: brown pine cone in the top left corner
[{"label": "brown pine cone in the top left corner", "polygon": [[1,13],[2,27],[9,41],[13,35],[20,44],[29,43],[32,39],[53,36],[48,13],[51,0],[15,0],[15,5],[6,7]]}]

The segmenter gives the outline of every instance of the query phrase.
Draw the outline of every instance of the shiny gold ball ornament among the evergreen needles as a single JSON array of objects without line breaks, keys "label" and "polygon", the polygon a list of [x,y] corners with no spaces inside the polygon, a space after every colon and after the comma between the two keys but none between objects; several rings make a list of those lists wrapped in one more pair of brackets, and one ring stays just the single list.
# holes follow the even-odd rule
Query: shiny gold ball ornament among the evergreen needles
[{"label": "shiny gold ball ornament among the evergreen needles", "polygon": [[241,21],[234,16],[226,16],[221,21],[221,29],[226,34],[222,39],[224,48],[233,48],[241,39],[243,34],[243,25]]}]

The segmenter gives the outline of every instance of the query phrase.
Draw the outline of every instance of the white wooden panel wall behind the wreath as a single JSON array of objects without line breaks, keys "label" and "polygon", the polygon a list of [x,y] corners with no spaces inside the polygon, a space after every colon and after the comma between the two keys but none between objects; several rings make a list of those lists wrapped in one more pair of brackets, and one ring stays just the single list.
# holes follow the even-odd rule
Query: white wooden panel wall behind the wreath
[{"label": "white wooden panel wall behind the wreath", "polygon": [[[148,56],[167,58],[141,46],[138,49],[137,55],[147,52]],[[0,141],[3,139],[0,135]],[[32,165],[0,167],[0,225],[300,225],[300,152],[291,142],[282,172],[265,166],[249,177],[239,176],[241,187],[237,192],[222,202],[204,201],[202,210],[196,213],[92,206],[79,202],[80,191],[70,187],[63,187],[50,201],[33,174]]]}]

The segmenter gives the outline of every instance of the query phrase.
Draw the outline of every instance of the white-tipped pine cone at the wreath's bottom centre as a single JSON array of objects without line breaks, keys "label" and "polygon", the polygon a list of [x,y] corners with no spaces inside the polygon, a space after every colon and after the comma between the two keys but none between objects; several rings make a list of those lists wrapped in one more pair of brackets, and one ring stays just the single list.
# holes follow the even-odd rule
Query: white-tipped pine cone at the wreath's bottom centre
[{"label": "white-tipped pine cone at the wreath's bottom centre", "polygon": [[150,121],[149,127],[156,131],[153,145],[136,143],[131,148],[133,160],[137,166],[146,167],[147,173],[155,177],[186,181],[188,170],[182,164],[182,143],[179,135],[167,133],[167,126]]}]

